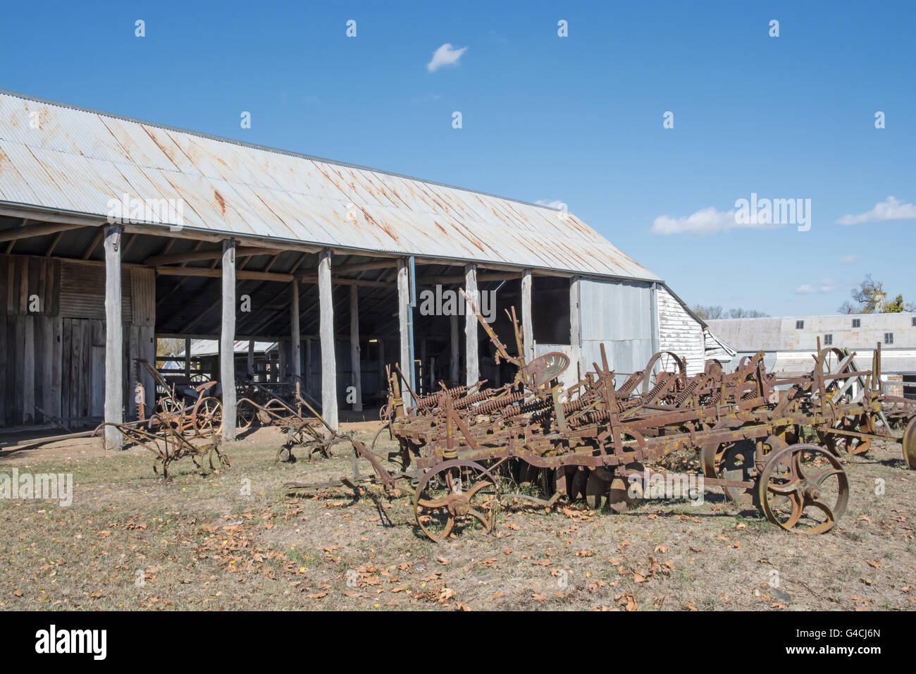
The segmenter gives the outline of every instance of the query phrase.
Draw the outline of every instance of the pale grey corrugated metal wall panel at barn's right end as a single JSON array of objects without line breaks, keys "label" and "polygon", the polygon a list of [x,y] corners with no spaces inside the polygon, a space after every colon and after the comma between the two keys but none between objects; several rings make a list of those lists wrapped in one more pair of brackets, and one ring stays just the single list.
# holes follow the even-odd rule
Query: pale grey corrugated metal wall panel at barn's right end
[{"label": "pale grey corrugated metal wall panel at barn's right end", "polygon": [[645,368],[655,342],[649,283],[581,279],[579,292],[585,370],[601,363],[601,344],[612,370]]}]

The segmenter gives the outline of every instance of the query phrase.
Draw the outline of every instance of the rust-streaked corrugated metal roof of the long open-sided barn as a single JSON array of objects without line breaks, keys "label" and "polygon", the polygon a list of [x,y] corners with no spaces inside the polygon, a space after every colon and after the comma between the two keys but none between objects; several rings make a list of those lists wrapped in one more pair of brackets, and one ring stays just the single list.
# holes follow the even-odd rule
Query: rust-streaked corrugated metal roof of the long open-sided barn
[{"label": "rust-streaked corrugated metal roof of the long open-sided barn", "polygon": [[194,229],[659,280],[549,206],[0,90],[0,201],[104,217],[125,193]]}]

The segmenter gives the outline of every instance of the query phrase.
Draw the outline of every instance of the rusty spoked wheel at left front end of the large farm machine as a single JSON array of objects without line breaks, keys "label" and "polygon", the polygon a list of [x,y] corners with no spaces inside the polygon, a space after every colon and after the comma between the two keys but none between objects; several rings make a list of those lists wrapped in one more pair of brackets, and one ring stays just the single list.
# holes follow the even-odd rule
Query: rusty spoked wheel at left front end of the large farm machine
[{"label": "rusty spoked wheel at left front end of the large farm machine", "polygon": [[420,478],[413,495],[417,525],[434,543],[446,540],[456,526],[493,530],[499,512],[496,478],[474,461],[451,459]]}]

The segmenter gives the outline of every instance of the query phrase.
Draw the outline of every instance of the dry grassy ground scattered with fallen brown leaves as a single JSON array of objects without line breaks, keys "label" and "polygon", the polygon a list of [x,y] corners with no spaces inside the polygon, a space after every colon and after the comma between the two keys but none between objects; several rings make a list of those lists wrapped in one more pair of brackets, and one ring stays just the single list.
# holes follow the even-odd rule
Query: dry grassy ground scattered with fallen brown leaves
[{"label": "dry grassy ground scattered with fallen brown leaves", "polygon": [[183,459],[169,482],[147,450],[95,439],[4,452],[0,474],[71,473],[73,500],[0,499],[0,607],[916,609],[916,474],[900,446],[849,460],[849,507],[824,536],[783,532],[714,490],[627,514],[504,502],[491,535],[437,545],[409,498],[286,496],[283,482],[331,480],[350,461],[300,450],[275,463],[281,443],[259,429],[224,447],[231,469],[202,476]]}]

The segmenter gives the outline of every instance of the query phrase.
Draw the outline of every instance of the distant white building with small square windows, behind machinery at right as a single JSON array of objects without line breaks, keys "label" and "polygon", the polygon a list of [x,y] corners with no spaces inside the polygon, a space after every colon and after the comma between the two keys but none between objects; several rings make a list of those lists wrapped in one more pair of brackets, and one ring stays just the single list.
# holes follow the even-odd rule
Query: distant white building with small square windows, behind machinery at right
[{"label": "distant white building with small square windows, behind machinery at right", "polygon": [[727,318],[707,323],[718,337],[736,349],[733,365],[762,349],[767,352],[764,363],[770,371],[811,370],[820,337],[821,348],[856,351],[856,364],[866,369],[871,367],[872,350],[880,343],[882,373],[903,375],[903,381],[916,379],[914,314]]}]

